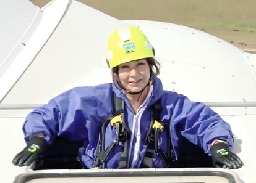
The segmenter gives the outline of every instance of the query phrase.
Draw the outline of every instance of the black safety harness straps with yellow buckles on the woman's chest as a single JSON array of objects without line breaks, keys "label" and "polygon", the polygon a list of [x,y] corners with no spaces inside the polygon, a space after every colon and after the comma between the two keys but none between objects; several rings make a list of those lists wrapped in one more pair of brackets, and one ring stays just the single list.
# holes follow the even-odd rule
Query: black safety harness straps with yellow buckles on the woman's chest
[{"label": "black safety harness straps with yellow buckles on the woman's chest", "polygon": [[[173,161],[173,153],[172,153],[172,145],[171,145],[171,138],[169,134],[168,126],[162,124],[160,122],[160,113],[161,113],[161,105],[160,101],[156,102],[151,108],[151,123],[150,128],[147,132],[146,136],[146,144],[147,150],[145,152],[145,156],[142,161],[143,168],[153,168],[153,158],[160,155],[163,159],[166,167],[171,167],[171,163]],[[98,148],[96,151],[96,158],[95,158],[95,168],[107,168],[106,161],[108,160],[109,153],[113,148],[119,145],[119,142],[122,142],[123,148],[121,152],[121,160],[119,161],[118,168],[129,168],[127,165],[128,160],[128,139],[130,137],[130,129],[127,128],[126,123],[124,122],[124,101],[116,97],[114,94],[114,116],[107,116],[100,125],[100,133],[99,133],[99,141],[98,141]],[[105,132],[106,126],[111,124],[113,128],[116,129],[116,138],[111,142],[111,144],[105,148]],[[163,132],[164,129],[168,134],[168,150],[167,154],[163,152],[161,147],[158,145],[160,144],[159,141],[159,132]]]}]

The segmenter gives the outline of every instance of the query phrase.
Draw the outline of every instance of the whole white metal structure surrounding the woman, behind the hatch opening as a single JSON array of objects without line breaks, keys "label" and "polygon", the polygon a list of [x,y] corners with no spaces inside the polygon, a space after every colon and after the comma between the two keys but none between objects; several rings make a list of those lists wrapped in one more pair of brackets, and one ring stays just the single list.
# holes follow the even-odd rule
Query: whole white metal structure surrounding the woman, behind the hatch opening
[{"label": "whole white metal structure surrounding the woman, behind the hatch opening", "polygon": [[256,182],[256,54],[186,26],[120,21],[73,0],[42,9],[28,0],[2,0],[0,23],[1,182],[25,171],[11,161],[25,147],[22,124],[33,107],[75,86],[111,82],[106,41],[127,23],[139,26],[155,47],[164,89],[208,102],[231,124],[233,152],[245,164],[232,172]]}]

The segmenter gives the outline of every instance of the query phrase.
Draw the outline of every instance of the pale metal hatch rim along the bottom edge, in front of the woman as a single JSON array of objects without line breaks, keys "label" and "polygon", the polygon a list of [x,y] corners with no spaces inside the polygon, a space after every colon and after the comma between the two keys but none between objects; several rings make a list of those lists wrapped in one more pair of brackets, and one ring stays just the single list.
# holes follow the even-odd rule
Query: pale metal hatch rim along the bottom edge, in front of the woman
[{"label": "pale metal hatch rim along the bottom edge, in front of the woman", "polygon": [[[40,177],[40,179],[38,179]],[[142,183],[236,183],[241,182],[237,174],[227,169],[220,168],[197,168],[197,169],[101,169],[94,170],[59,170],[59,171],[33,171],[20,174],[14,183],[53,183],[53,182],[142,182]]]}]

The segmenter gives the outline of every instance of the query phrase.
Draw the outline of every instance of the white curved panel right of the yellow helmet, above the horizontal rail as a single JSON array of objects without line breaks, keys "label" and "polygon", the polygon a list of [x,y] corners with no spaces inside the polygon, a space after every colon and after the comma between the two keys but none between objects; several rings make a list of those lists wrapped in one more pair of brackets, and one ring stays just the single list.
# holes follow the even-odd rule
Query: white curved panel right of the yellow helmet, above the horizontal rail
[{"label": "white curved panel right of the yellow helmet, above the horizontal rail", "polygon": [[202,102],[256,101],[254,75],[237,47],[186,26],[125,22],[142,28],[155,47],[164,89]]}]

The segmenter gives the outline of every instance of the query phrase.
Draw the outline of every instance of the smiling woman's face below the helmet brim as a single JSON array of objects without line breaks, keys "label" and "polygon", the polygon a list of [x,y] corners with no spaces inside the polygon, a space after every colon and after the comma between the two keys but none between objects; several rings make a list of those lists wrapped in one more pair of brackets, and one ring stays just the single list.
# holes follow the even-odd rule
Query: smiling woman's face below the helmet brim
[{"label": "smiling woman's face below the helmet brim", "polygon": [[134,60],[119,65],[118,78],[128,92],[140,92],[150,79],[150,66],[147,59]]}]

